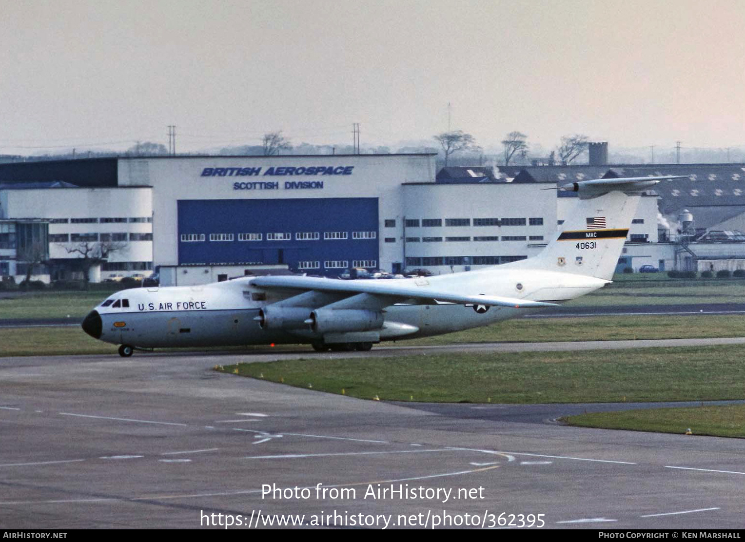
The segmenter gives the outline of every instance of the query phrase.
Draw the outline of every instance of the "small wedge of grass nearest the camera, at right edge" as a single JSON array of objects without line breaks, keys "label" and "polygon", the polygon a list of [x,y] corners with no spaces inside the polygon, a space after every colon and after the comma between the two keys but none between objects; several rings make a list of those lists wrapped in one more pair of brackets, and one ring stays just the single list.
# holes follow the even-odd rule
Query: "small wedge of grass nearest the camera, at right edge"
[{"label": "small wedge of grass nearest the camera, at right edge", "polygon": [[583,414],[565,418],[570,425],[685,433],[694,435],[745,437],[745,405],[699,406],[694,408],[627,410]]}]

